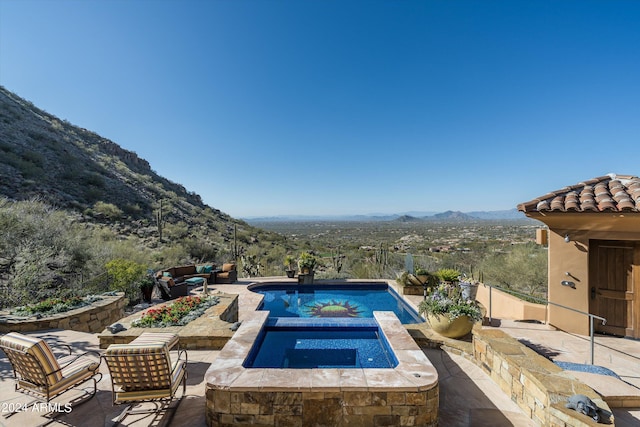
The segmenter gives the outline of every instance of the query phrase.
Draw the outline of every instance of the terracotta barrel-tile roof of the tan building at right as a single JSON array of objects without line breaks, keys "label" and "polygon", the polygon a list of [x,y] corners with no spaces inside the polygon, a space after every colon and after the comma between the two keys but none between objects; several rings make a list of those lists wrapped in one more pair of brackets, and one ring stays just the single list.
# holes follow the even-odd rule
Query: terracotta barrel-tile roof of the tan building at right
[{"label": "terracotta barrel-tile roof of the tan building at right", "polygon": [[520,203],[521,212],[640,212],[640,178],[609,174]]}]

